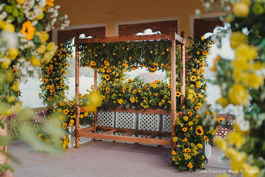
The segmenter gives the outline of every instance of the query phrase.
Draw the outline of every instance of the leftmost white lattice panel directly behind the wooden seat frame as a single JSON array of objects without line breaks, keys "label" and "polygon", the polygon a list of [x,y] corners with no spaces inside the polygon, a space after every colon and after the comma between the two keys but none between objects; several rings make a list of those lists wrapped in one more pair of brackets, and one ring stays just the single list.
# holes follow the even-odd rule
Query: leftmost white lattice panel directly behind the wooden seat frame
[{"label": "leftmost white lattice panel directly behind the wooden seat frame", "polygon": [[[113,111],[97,111],[97,125],[105,127],[115,127],[115,112]],[[97,131],[97,133],[103,133],[104,131]],[[111,133],[110,135],[113,135]],[[98,139],[103,140],[103,139]],[[103,140],[103,141],[113,141],[113,140]]]}]

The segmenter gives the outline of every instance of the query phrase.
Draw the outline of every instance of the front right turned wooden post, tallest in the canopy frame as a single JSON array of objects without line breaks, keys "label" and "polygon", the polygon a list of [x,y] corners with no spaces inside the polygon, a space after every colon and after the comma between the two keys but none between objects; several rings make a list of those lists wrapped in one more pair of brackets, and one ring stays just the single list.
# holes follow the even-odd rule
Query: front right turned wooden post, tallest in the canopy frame
[{"label": "front right turned wooden post, tallest in the canopy frame", "polygon": [[176,143],[173,141],[174,136],[176,136],[176,37],[175,37],[175,27],[172,25],[170,27],[170,40],[171,45],[171,138],[170,146],[171,151],[176,148]]}]

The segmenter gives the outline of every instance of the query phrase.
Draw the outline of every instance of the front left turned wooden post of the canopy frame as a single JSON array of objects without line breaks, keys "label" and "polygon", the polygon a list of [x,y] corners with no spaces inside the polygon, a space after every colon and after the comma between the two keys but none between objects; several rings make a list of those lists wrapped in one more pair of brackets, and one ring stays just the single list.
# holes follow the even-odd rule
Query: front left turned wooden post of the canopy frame
[{"label": "front left turned wooden post of the canopy frame", "polygon": [[76,128],[74,131],[74,135],[76,138],[76,148],[79,148],[79,115],[80,115],[80,107],[79,107],[79,47],[78,47],[78,38],[79,32],[76,31],[75,45],[76,45],[76,107],[75,107],[75,115],[76,115]]}]

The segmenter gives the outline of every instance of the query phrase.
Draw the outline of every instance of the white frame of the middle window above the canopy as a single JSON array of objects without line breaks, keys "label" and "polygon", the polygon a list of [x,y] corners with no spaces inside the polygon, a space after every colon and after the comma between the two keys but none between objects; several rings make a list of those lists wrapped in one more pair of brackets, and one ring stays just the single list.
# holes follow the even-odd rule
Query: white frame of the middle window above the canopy
[{"label": "white frame of the middle window above the canopy", "polygon": [[178,21],[178,34],[179,33],[179,16],[176,17],[163,17],[163,18],[154,18],[154,19],[140,19],[140,20],[129,20],[129,21],[117,21],[114,23],[114,35],[119,36],[119,25],[131,25],[131,24],[139,24],[139,23],[152,23],[152,22],[160,22],[160,21]]}]

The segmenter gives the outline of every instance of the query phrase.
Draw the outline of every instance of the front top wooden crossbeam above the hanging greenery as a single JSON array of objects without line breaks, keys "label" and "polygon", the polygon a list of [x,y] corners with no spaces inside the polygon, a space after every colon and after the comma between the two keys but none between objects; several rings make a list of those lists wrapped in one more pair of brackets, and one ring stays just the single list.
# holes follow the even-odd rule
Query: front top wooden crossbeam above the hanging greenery
[{"label": "front top wooden crossbeam above the hanging greenery", "polygon": [[78,43],[99,43],[99,42],[122,42],[122,41],[142,41],[142,40],[160,40],[170,39],[169,34],[150,34],[139,36],[115,36],[78,39]]}]

